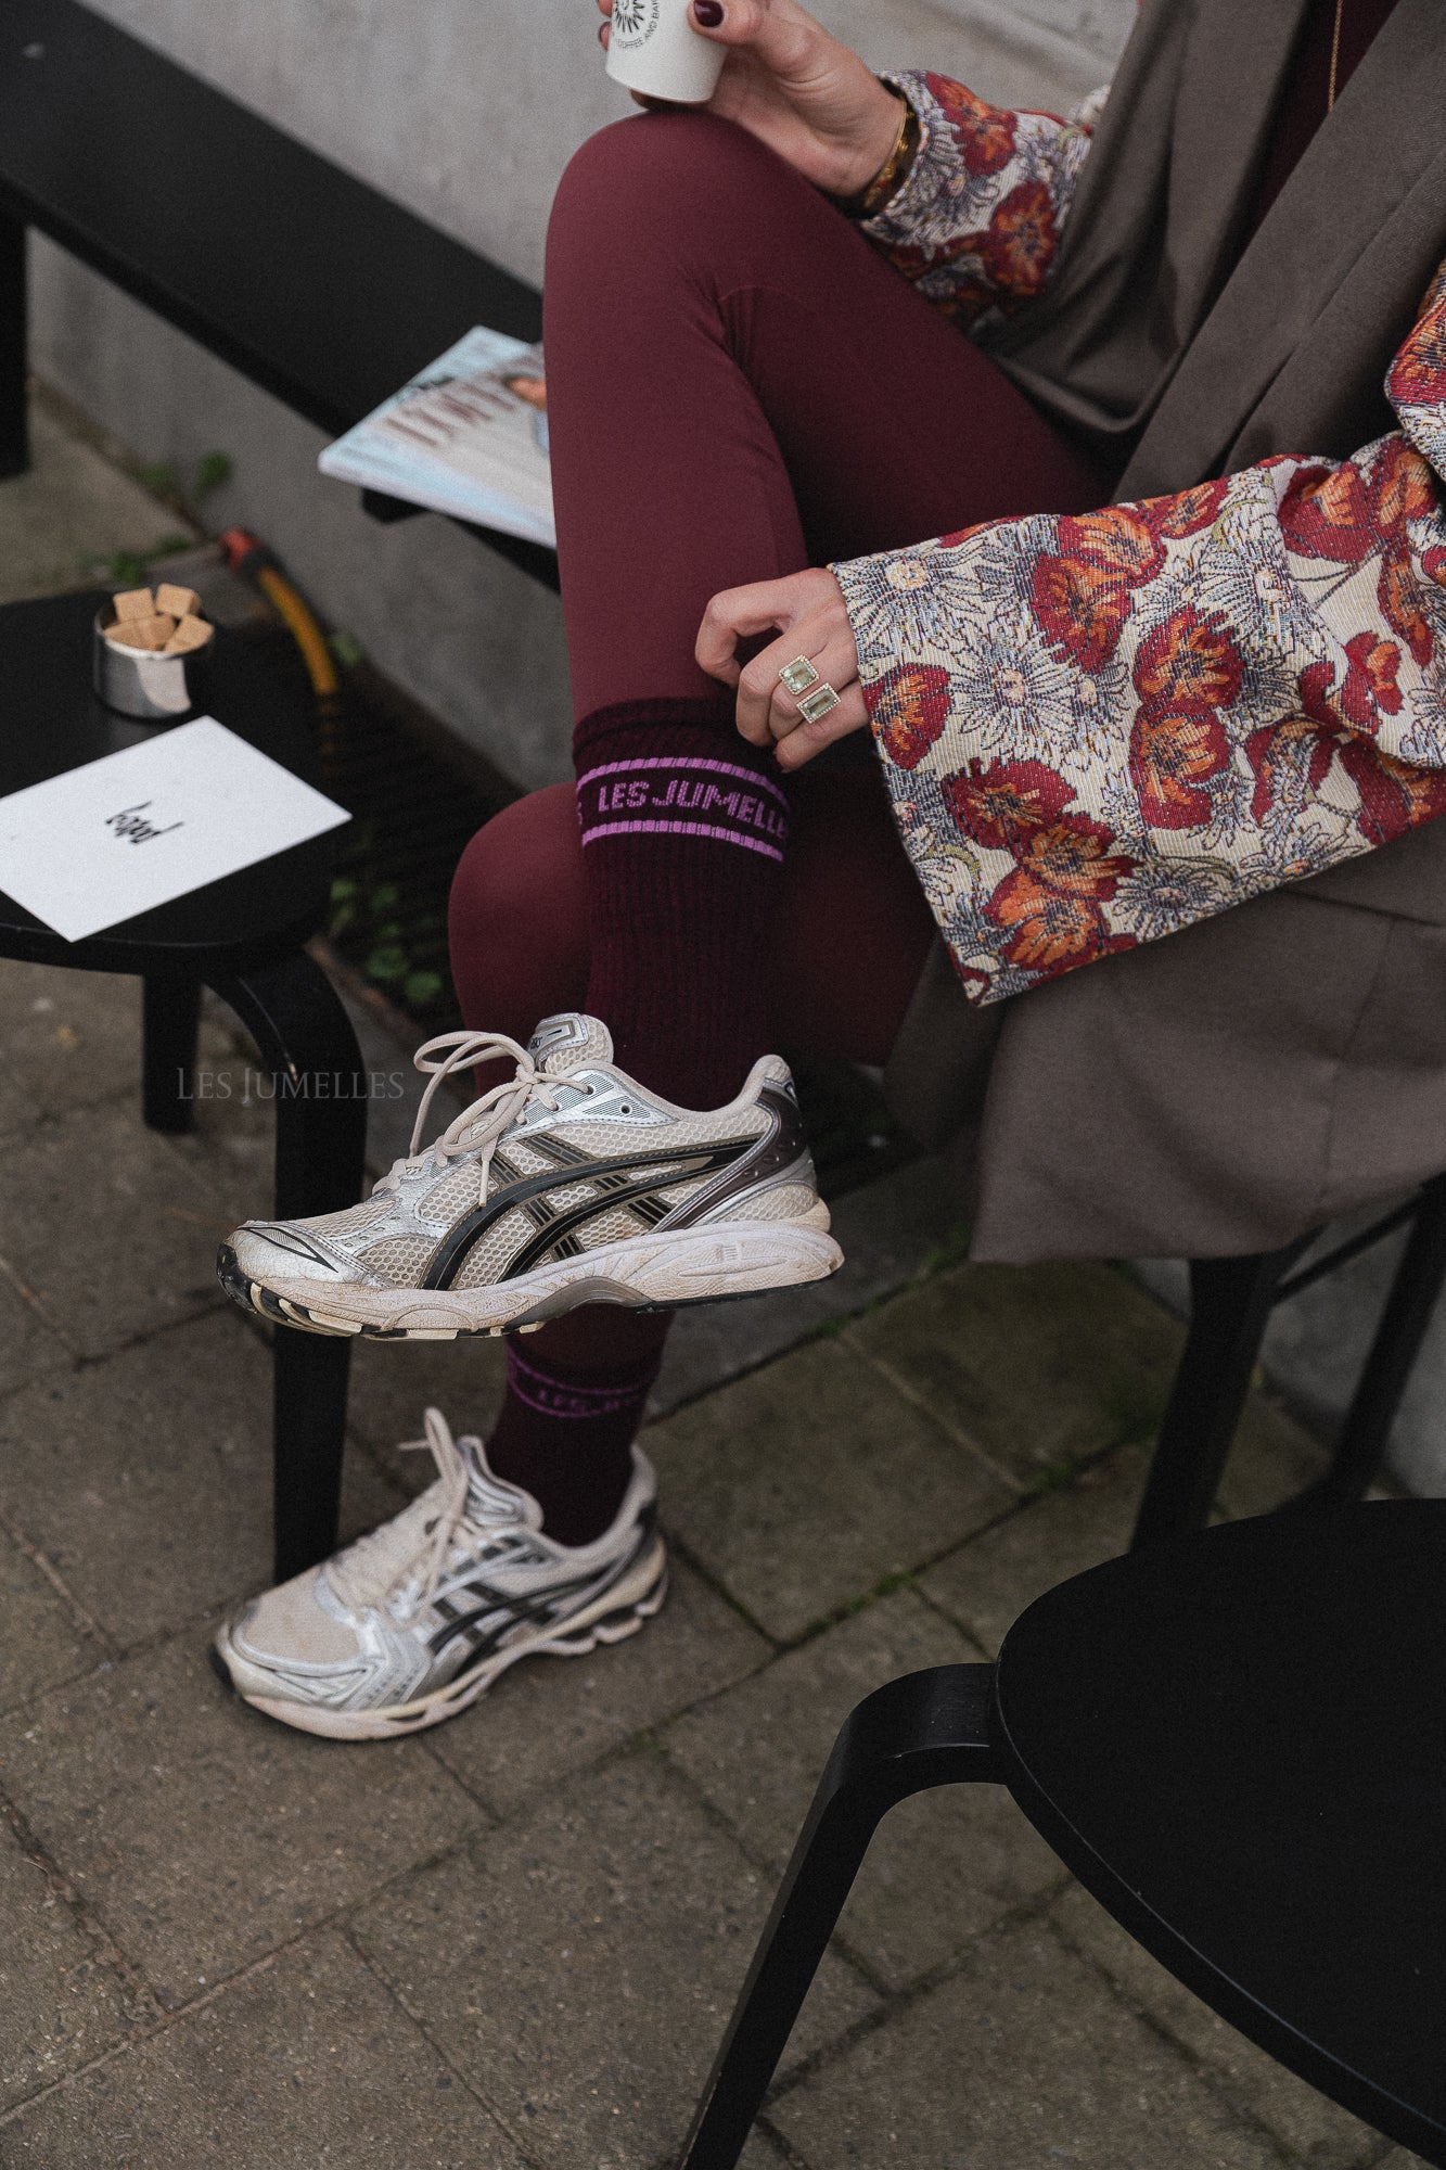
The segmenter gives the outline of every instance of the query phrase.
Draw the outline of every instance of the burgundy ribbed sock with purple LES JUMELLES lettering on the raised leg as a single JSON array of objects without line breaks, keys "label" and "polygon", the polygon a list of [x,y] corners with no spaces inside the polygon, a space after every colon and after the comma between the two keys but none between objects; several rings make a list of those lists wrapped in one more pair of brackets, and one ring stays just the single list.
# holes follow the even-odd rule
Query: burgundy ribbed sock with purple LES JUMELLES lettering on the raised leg
[{"label": "burgundy ribbed sock with purple LES JUMELLES lettering on the raised leg", "polygon": [[771,751],[723,701],[627,701],[578,725],[588,1009],[640,1085],[712,1109],[769,1052],[769,935],[788,838]]}]

